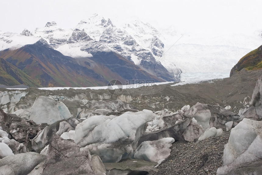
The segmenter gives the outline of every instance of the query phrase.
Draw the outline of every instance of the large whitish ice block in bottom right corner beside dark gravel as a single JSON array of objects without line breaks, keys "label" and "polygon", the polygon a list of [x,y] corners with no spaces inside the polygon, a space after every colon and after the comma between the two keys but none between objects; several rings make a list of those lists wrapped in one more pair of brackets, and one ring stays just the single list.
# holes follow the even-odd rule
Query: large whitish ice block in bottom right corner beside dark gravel
[{"label": "large whitish ice block in bottom right corner beside dark gravel", "polygon": [[227,174],[231,170],[262,159],[261,127],[262,121],[244,118],[231,129],[224,149],[223,166],[218,168],[217,174]]}]

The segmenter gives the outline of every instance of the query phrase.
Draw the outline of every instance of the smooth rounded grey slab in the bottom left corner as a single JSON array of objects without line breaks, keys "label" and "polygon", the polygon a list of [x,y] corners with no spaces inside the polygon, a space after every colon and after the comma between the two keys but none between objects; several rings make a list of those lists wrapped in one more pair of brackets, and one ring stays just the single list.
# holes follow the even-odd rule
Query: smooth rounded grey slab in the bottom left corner
[{"label": "smooth rounded grey slab in the bottom left corner", "polygon": [[43,162],[45,157],[45,155],[37,154],[35,152],[6,156],[0,160],[0,174],[28,174],[39,163]]}]

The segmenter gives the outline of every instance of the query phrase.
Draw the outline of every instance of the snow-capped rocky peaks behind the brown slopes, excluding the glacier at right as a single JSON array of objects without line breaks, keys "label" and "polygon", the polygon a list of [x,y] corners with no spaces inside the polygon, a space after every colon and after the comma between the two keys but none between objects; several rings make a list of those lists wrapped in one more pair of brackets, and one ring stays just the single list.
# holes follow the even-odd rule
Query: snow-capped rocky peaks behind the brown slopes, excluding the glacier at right
[{"label": "snow-capped rocky peaks behind the brown slopes, excluding the glacier at right", "polygon": [[95,14],[70,30],[64,30],[51,22],[32,33],[46,39],[54,49],[67,56],[91,57],[100,51],[113,51],[163,80],[178,81],[180,78],[179,68],[173,67],[177,70],[175,74],[168,72],[155,59],[155,56],[161,57],[163,54],[164,44],[157,36],[158,31],[150,24],[140,21],[138,24],[136,21],[119,28],[110,19]]}]

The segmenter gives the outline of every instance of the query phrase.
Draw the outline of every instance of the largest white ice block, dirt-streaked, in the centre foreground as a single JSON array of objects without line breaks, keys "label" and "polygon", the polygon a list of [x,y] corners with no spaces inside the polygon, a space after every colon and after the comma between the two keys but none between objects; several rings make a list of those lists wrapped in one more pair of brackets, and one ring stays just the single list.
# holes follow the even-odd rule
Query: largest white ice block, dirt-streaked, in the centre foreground
[{"label": "largest white ice block, dirt-streaked, in the centre foreground", "polygon": [[93,116],[76,126],[75,142],[97,154],[103,162],[133,156],[137,142],[154,119],[152,111],[125,112],[120,116]]}]

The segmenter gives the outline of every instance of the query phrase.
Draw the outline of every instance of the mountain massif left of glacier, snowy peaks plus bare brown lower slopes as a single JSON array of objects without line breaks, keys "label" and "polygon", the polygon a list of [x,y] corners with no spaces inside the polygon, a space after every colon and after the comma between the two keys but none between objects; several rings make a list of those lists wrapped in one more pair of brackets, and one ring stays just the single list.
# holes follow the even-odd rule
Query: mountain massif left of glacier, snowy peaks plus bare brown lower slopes
[{"label": "mountain massif left of glacier, snowy peaks plus bare brown lower slopes", "polygon": [[[21,68],[45,87],[98,86],[106,85],[106,81],[112,79],[119,79],[124,84],[126,79],[164,82],[178,81],[180,78],[179,68],[174,67],[177,71],[171,73],[156,61],[155,57],[161,57],[164,49],[161,35],[150,24],[141,21],[118,28],[110,19],[95,14],[69,30],[58,27],[55,22],[48,22],[45,27],[36,28],[33,32],[25,29],[20,35],[8,32],[0,35],[0,46],[4,49],[0,57]],[[38,44],[39,54],[36,54],[36,48],[25,49],[35,46],[37,42],[44,43],[44,40],[47,43],[42,45],[48,49],[40,49]],[[66,71],[66,67],[62,65],[59,67],[53,57],[64,60],[61,64],[70,60],[72,67],[82,72],[75,73],[71,70],[73,72],[70,78],[69,70]],[[36,73],[36,70],[30,70],[35,69],[31,68],[32,59],[48,60],[49,65],[43,65],[45,64],[43,61],[40,68],[44,70]],[[87,73],[90,76],[85,75]]]}]

